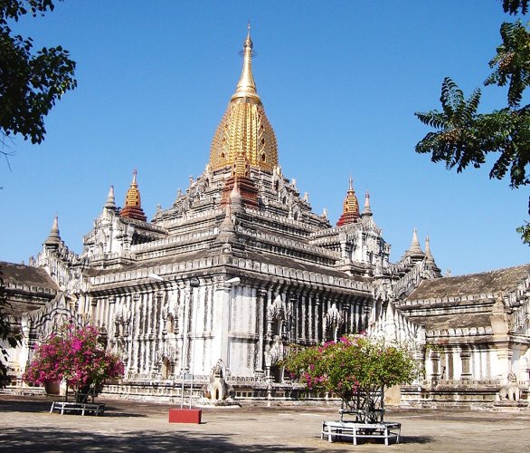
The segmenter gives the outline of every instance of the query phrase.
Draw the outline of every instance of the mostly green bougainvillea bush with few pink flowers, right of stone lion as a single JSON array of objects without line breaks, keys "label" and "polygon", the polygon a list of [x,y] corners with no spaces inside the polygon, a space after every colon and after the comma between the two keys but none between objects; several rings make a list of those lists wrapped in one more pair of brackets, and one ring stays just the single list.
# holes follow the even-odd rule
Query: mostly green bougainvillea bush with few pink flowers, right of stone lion
[{"label": "mostly green bougainvillea bush with few pink flowers, right of stone lion", "polygon": [[411,352],[364,335],[307,348],[291,346],[283,366],[308,390],[335,393],[343,408],[366,413],[383,409],[384,390],[412,383],[420,370]]}]

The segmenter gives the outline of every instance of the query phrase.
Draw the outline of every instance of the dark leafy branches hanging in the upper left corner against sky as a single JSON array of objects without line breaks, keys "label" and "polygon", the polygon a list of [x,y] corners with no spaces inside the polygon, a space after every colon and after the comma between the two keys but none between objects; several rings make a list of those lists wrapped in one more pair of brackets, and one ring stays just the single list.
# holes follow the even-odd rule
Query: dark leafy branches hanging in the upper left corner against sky
[{"label": "dark leafy branches hanging in the upper left corner against sky", "polygon": [[61,46],[33,53],[32,38],[13,35],[8,21],[53,10],[52,0],[0,2],[0,132],[41,143],[44,117],[64,92],[76,87],[75,62]]}]

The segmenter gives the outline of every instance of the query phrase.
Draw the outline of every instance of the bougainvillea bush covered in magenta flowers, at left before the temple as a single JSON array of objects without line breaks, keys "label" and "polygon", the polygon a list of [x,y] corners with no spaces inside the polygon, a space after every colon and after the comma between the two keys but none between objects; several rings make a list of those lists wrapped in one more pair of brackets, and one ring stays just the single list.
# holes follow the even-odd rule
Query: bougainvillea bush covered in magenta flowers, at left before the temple
[{"label": "bougainvillea bush covered in magenta flowers, at left before the temple", "polygon": [[66,381],[68,387],[80,391],[99,387],[108,379],[123,376],[123,372],[118,355],[106,352],[99,342],[97,327],[70,324],[36,347],[24,381],[33,384]]}]

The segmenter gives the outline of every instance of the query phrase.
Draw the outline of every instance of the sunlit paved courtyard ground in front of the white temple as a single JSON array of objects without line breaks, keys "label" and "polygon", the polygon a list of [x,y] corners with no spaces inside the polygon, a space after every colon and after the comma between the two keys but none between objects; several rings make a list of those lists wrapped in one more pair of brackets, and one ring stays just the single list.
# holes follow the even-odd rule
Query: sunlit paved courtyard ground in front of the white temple
[{"label": "sunlit paved courtyard ground in front of the white temple", "polygon": [[205,409],[200,425],[169,424],[171,405],[106,400],[103,417],[50,414],[46,397],[0,394],[0,450],[44,451],[185,451],[185,452],[522,452],[530,443],[530,410],[387,411],[385,419],[402,422],[399,445],[329,443],[320,439],[324,419],[336,408],[244,407]]}]

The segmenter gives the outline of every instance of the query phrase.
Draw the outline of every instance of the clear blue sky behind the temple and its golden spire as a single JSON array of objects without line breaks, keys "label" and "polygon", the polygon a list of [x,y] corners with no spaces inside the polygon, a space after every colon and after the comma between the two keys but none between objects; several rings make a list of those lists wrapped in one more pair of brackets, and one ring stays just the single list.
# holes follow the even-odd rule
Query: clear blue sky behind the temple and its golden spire
[{"label": "clear blue sky behind the temple and its golden spire", "polygon": [[[16,32],[71,52],[79,87],[48,116],[42,145],[17,139],[11,171],[0,162],[0,260],[36,255],[56,213],[62,239],[80,253],[109,186],[122,205],[133,169],[147,217],[171,206],[208,161],[251,20],[253,72],[280,166],[316,212],[327,207],[336,222],[352,175],[361,203],[370,191],[393,261],[416,227],[452,275],[528,262],[515,232],[527,188],[489,180],[487,168],[456,174],[414,152],[429,132],[414,111],[439,108],[447,75],[466,95],[481,86],[511,19],[498,0],[67,0],[24,18]],[[504,90],[482,92],[482,111],[505,105]]]}]

